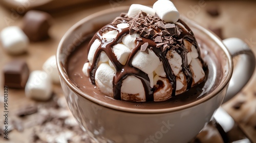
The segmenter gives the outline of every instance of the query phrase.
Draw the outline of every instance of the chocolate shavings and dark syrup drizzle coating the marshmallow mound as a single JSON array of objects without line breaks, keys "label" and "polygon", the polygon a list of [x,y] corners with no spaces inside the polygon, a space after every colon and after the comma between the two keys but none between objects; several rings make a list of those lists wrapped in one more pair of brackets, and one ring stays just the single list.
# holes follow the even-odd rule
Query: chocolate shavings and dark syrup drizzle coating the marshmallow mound
[{"label": "chocolate shavings and dark syrup drizzle coating the marshmallow mound", "polygon": [[[123,29],[117,28],[119,23],[127,23],[129,24],[129,27]],[[118,31],[116,38],[110,41],[104,40],[102,38],[103,33],[105,33],[105,31],[112,30]],[[123,36],[127,34],[132,35],[134,33],[139,34],[141,37],[136,38],[136,47],[132,50],[126,63],[123,65],[117,60],[112,47],[117,43],[121,43]],[[194,34],[180,19],[173,23],[165,22],[157,15],[150,15],[144,12],[140,12],[131,18],[125,13],[122,13],[119,17],[114,19],[112,23],[99,30],[94,35],[88,46],[91,47],[96,39],[101,41],[101,44],[95,52],[93,62],[88,67],[90,81],[92,84],[96,84],[95,74],[100,59],[100,53],[103,51],[106,53],[116,69],[113,77],[113,97],[116,100],[121,100],[122,82],[128,76],[135,76],[142,82],[146,101],[154,101],[154,92],[162,88],[161,81],[157,82],[157,85],[154,85],[154,87],[151,87],[148,75],[132,65],[132,60],[137,52],[146,52],[148,54],[148,50],[151,50],[156,54],[156,56],[158,56],[159,60],[163,63],[166,78],[172,85],[172,87],[170,87],[172,88],[172,93],[170,93],[172,94],[172,97],[176,96],[176,76],[174,75],[168,59],[166,58],[168,51],[175,50],[182,58],[181,70],[185,76],[185,88],[189,89],[193,84],[193,73],[189,68],[187,59],[187,53],[191,52],[191,48],[189,49],[185,47],[184,45],[186,43],[184,43],[184,41],[188,41],[191,45],[194,45],[199,55],[200,51]],[[200,56],[199,60],[203,63]]]}]

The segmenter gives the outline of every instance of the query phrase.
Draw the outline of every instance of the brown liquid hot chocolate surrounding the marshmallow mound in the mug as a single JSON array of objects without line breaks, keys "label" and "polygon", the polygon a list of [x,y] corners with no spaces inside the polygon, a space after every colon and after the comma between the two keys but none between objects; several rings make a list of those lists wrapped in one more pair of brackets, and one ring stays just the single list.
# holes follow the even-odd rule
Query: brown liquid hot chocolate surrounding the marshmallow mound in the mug
[{"label": "brown liquid hot chocolate surrounding the marshmallow mound in the mug", "polygon": [[[94,33],[91,33],[91,36]],[[89,35],[89,34],[87,34]],[[134,109],[163,109],[170,107],[177,107],[185,104],[192,103],[202,97],[204,97],[208,92],[213,89],[214,86],[219,84],[217,78],[217,63],[218,60],[216,56],[211,52],[209,48],[207,48],[207,44],[203,44],[203,42],[198,39],[198,43],[201,48],[201,55],[203,60],[206,62],[208,69],[205,71],[206,80],[199,85],[190,88],[188,91],[180,94],[179,96],[170,98],[163,102],[145,102],[145,103],[135,103],[135,102],[127,102],[112,99],[106,96],[104,93],[100,92],[95,88],[95,85],[91,84],[89,78],[86,77],[83,72],[83,64],[88,61],[87,55],[89,52],[88,44],[91,38],[89,37],[85,40],[81,45],[77,46],[75,51],[71,53],[67,60],[66,70],[70,80],[84,93],[89,96],[99,99],[103,102],[108,102],[113,105],[134,108]],[[221,72],[221,71],[219,71]]]}]

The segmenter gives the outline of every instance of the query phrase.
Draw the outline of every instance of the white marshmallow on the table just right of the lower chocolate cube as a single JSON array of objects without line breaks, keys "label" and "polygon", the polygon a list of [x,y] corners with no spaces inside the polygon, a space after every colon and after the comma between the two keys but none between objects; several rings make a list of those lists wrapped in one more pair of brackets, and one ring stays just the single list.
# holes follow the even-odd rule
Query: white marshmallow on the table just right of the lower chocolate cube
[{"label": "white marshmallow on the table just right of the lower chocolate cube", "polygon": [[47,101],[51,98],[52,83],[50,76],[41,70],[32,71],[25,87],[27,97]]}]

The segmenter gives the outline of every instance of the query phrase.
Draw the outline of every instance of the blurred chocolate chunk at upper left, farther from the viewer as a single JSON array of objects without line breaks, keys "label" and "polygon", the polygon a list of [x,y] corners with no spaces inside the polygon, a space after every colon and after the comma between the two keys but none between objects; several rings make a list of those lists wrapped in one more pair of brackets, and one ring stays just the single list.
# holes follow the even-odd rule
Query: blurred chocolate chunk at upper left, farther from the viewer
[{"label": "blurred chocolate chunk at upper left, farther from the viewer", "polygon": [[44,40],[49,37],[51,19],[46,12],[30,10],[23,18],[23,31],[31,41]]}]

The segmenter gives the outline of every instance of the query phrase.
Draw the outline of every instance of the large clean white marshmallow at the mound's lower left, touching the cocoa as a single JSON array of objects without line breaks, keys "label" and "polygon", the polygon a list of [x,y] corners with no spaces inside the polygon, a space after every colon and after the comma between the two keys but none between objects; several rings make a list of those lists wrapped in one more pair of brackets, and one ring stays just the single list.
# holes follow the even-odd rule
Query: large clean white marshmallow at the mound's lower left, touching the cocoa
[{"label": "large clean white marshmallow at the mound's lower left, touching the cocoa", "polygon": [[113,98],[114,69],[106,63],[101,63],[96,70],[95,83],[99,90]]}]

